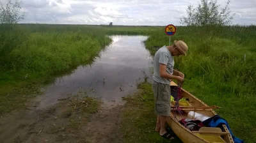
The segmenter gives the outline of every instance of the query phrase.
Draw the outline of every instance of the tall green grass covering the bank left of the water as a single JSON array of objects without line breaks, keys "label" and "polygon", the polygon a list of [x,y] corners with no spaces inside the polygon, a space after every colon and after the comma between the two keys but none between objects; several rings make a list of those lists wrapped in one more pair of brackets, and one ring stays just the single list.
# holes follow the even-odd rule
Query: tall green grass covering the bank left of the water
[{"label": "tall green grass covering the bank left of the water", "polygon": [[24,96],[38,93],[55,75],[90,63],[111,42],[96,28],[8,28],[0,34],[0,114],[24,105]]}]

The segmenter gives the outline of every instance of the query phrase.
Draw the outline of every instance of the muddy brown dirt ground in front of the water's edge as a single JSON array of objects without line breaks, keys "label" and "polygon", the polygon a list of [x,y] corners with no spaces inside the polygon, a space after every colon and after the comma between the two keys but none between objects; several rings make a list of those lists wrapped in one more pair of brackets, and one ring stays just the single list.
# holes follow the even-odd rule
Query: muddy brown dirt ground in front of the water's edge
[{"label": "muddy brown dirt ground in front of the water's edge", "polygon": [[119,142],[122,105],[68,98],[47,109],[36,103],[0,118],[0,142]]}]

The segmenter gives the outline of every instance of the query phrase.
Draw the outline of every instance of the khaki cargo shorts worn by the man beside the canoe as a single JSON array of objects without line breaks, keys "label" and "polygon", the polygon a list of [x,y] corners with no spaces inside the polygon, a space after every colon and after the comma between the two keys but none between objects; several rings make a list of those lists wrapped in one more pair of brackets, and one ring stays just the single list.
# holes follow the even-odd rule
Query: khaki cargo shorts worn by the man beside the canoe
[{"label": "khaki cargo shorts worn by the man beside the canoe", "polygon": [[171,115],[171,88],[168,84],[161,84],[153,80],[153,91],[155,107],[154,110],[157,115],[160,116],[170,116]]}]

